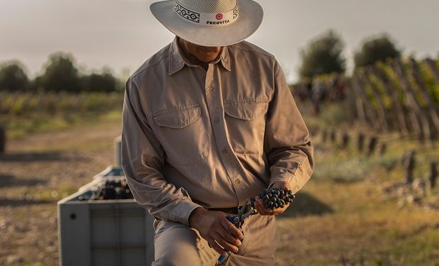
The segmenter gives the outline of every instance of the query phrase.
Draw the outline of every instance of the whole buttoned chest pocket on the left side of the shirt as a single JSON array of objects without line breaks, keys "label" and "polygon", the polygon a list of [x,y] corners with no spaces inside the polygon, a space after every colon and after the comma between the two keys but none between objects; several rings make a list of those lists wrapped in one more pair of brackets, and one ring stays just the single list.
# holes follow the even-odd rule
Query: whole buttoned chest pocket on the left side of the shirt
[{"label": "whole buttoned chest pocket on the left side of the shirt", "polygon": [[189,165],[209,156],[200,106],[186,106],[153,114],[157,138],[169,162]]}]

